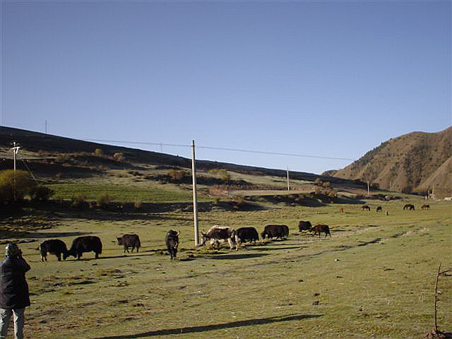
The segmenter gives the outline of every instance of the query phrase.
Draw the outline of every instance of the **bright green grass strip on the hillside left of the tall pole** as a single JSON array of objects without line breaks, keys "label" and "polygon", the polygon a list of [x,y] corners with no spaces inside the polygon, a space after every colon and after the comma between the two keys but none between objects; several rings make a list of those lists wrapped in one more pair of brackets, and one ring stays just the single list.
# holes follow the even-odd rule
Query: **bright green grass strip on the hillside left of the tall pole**
[{"label": "bright green grass strip on the hillside left of the tall pole", "polygon": [[[54,189],[54,199],[71,199],[83,195],[87,200],[96,200],[98,196],[108,194],[112,201],[143,203],[189,202],[192,201],[191,191],[163,189],[157,186],[136,187],[115,184],[51,184]],[[203,200],[203,196],[200,196]]]}]

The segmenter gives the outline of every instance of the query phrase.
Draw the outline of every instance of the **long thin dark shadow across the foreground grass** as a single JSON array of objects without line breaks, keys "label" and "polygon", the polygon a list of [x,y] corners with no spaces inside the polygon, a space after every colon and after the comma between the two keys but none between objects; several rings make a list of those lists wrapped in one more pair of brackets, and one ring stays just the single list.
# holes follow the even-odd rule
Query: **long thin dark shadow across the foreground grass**
[{"label": "long thin dark shadow across the foreground grass", "polygon": [[175,334],[185,334],[185,333],[199,333],[206,331],[215,331],[222,328],[236,328],[243,326],[255,326],[264,325],[266,323],[280,323],[283,321],[297,321],[303,319],[319,318],[323,314],[290,314],[287,316],[270,316],[268,318],[261,319],[248,319],[232,321],[230,323],[215,323],[206,326],[191,326],[191,327],[181,327],[181,328],[167,328],[163,330],[148,331],[143,333],[136,333],[130,335],[112,335],[107,337],[96,337],[93,339],[128,339],[128,338],[145,338],[154,335],[175,335]]}]

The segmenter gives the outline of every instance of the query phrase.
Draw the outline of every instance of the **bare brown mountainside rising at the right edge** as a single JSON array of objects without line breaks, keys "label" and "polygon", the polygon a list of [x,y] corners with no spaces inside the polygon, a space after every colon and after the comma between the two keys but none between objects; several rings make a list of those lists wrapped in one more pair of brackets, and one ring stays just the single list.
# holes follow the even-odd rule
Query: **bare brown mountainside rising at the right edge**
[{"label": "bare brown mountainside rising at the right edge", "polygon": [[412,132],[391,138],[334,174],[361,179],[390,191],[434,189],[452,195],[452,126],[437,133]]}]

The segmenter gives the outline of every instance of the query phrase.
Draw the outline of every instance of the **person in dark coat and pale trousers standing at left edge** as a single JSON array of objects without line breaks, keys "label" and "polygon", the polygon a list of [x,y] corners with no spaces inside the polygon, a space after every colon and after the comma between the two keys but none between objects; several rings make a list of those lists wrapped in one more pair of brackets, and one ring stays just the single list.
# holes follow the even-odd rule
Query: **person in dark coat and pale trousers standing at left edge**
[{"label": "person in dark coat and pale trousers standing at left edge", "polygon": [[30,306],[25,272],[30,265],[22,258],[16,244],[6,246],[6,259],[0,263],[0,339],[8,333],[9,321],[14,315],[14,338],[23,339],[25,307]]}]

